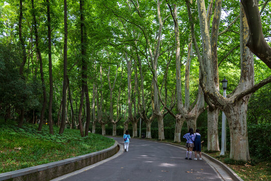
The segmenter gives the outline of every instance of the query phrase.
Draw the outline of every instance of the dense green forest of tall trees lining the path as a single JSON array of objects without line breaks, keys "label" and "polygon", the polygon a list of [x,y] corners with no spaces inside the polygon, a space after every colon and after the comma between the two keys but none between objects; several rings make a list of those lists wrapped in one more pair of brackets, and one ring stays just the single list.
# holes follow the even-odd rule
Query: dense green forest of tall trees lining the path
[{"label": "dense green forest of tall trees lining the path", "polygon": [[2,0],[0,117],[174,142],[200,127],[219,151],[223,111],[230,158],[270,159],[271,2],[258,19],[249,2]]}]

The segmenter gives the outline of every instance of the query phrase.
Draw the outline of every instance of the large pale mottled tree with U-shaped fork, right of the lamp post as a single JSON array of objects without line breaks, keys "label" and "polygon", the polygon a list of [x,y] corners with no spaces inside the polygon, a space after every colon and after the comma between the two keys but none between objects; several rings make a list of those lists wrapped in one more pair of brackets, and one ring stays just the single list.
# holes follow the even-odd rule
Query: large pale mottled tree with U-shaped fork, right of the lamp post
[{"label": "large pale mottled tree with U-shaped fork, right of the lamp post", "polygon": [[[198,13],[200,21],[200,30],[202,38],[202,58],[198,56],[200,60],[200,66],[202,68],[202,78],[200,79],[200,85],[204,90],[204,95],[209,106],[212,104],[221,109],[228,120],[231,136],[231,149],[230,158],[235,160],[249,160],[248,140],[246,130],[246,110],[247,102],[250,97],[249,94],[256,91],[259,86],[263,86],[266,81],[271,81],[271,78],[267,78],[260,83],[254,84],[254,69],[253,58],[251,54],[245,48],[244,41],[248,37],[248,26],[243,16],[242,8],[240,8],[240,48],[241,48],[241,76],[239,84],[236,89],[227,98],[223,98],[215,88],[213,77],[213,66],[211,58],[211,43],[208,31],[208,24],[206,18],[204,1],[198,0]],[[203,73],[204,72],[204,73]]]}]

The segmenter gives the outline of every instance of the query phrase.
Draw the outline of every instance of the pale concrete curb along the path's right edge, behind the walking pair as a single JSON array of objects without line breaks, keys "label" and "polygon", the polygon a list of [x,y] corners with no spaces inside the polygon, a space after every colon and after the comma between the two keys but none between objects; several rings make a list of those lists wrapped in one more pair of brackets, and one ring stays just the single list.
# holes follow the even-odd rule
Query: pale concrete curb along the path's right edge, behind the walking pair
[{"label": "pale concrete curb along the path's right edge, behind the walking pair", "polygon": [[[163,142],[163,141],[156,141],[156,140],[150,140],[150,139],[142,139],[142,138],[132,138],[132,139],[141,139],[141,140],[147,140],[147,141],[154,141],[154,142],[159,142],[159,143],[165,143],[165,144],[170,144],[173,146],[178,146],[178,147],[182,147],[182,148],[187,148],[186,146],[183,145],[178,145],[178,144],[174,144],[174,143],[168,143],[168,142]],[[229,176],[232,178],[232,180],[235,181],[244,181],[242,178],[240,178],[232,169],[230,169],[227,165],[225,165],[224,163],[222,163],[221,161],[211,157],[210,155],[201,152],[202,155],[204,155],[205,157],[207,157],[209,160],[211,160],[212,162],[218,164],[219,166],[221,166],[221,168],[223,170],[225,170]],[[215,167],[214,167],[215,168]],[[216,169],[216,168],[215,168]],[[218,170],[217,170],[218,171]]]}]

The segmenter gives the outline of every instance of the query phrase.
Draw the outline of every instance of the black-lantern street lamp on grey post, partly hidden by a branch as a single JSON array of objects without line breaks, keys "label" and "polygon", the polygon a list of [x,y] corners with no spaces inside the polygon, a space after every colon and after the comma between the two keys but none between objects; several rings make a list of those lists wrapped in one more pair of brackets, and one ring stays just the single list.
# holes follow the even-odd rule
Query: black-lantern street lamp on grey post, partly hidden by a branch
[{"label": "black-lantern street lamp on grey post, partly hidden by a branch", "polygon": [[[226,90],[227,90],[228,80],[224,77],[222,80],[223,87],[223,97],[226,98]],[[225,155],[226,151],[226,116],[224,112],[222,112],[222,133],[221,133],[221,152],[220,155]]]}]

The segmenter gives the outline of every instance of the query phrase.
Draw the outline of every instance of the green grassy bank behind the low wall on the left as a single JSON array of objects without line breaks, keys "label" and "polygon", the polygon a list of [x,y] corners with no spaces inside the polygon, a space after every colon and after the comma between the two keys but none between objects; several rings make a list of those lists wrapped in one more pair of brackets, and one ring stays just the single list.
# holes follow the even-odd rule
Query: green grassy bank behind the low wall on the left
[{"label": "green grassy bank behind the low wall on the left", "polygon": [[48,125],[43,126],[42,132],[37,127],[18,128],[15,123],[0,121],[0,173],[99,151],[115,142],[92,133],[82,138],[79,130],[71,129],[59,135],[57,127],[51,135]]}]

